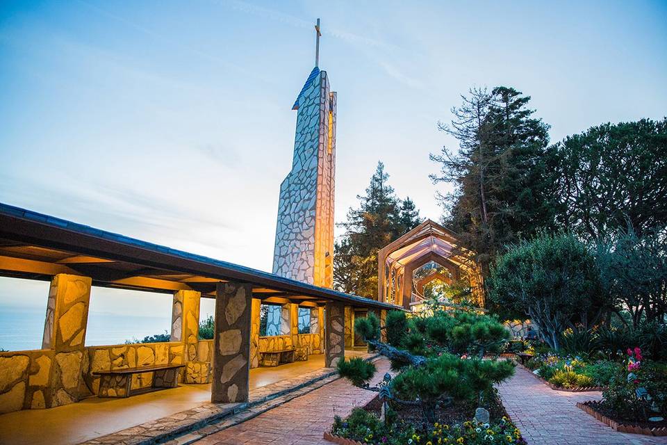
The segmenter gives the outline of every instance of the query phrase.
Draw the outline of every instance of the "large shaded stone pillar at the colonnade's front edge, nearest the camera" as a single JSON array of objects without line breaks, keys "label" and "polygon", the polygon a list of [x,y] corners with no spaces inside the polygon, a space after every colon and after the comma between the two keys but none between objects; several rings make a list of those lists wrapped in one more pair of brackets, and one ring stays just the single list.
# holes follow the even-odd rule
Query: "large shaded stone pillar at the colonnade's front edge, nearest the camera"
[{"label": "large shaded stone pillar at the colonnade's front edge, nearest the camera", "polygon": [[247,402],[252,286],[218,283],[216,293],[211,402]]}]

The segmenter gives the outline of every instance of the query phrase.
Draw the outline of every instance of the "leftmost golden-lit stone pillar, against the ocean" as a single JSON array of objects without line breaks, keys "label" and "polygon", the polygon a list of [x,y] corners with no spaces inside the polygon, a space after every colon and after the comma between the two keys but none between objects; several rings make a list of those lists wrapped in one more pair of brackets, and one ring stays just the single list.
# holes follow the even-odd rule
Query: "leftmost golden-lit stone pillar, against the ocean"
[{"label": "leftmost golden-lit stone pillar, against the ocean", "polygon": [[58,274],[51,280],[42,349],[54,351],[54,363],[45,388],[45,407],[79,401],[91,284],[90,277],[79,275]]}]

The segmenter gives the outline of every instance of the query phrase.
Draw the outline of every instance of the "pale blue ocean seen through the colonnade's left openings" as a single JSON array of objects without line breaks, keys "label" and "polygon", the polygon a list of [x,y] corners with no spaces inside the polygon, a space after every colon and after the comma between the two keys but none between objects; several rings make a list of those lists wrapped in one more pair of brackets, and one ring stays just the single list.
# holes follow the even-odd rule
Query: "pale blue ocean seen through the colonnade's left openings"
[{"label": "pale blue ocean seen through the colonnade's left openings", "polygon": [[[0,308],[0,349],[42,348],[44,309]],[[85,346],[122,344],[126,340],[169,332],[169,317],[127,316],[90,312]]]}]

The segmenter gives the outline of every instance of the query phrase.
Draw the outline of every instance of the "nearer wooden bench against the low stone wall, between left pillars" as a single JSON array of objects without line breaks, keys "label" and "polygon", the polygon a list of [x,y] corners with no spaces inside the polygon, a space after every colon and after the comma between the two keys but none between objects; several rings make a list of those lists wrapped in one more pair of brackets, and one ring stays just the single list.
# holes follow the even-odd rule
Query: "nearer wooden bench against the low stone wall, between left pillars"
[{"label": "nearer wooden bench against the low stone wall, between left pillars", "polygon": [[[113,369],[112,371],[96,371],[99,375],[98,397],[129,397],[160,389],[175,388],[179,385],[179,371],[183,364],[160,364],[139,366],[138,368]],[[132,375],[153,373],[153,384],[147,388],[132,390]]]}]

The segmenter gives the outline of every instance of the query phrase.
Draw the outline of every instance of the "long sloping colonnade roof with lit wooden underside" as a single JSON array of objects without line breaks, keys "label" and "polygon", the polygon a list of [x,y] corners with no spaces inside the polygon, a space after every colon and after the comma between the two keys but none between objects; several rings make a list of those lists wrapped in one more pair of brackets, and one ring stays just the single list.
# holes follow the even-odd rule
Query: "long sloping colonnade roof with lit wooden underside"
[{"label": "long sloping colonnade roof with lit wooden underside", "polygon": [[219,282],[252,284],[253,298],[319,306],[329,301],[368,309],[402,307],[313,286],[0,203],[0,276],[51,280],[85,275],[94,286],[215,298]]}]

